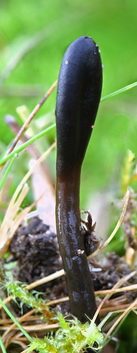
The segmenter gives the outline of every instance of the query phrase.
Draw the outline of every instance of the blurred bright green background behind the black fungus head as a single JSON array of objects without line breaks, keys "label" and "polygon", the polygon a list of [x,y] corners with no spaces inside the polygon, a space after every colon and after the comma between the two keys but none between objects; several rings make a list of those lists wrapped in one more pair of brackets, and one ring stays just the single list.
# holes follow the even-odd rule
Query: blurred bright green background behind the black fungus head
[{"label": "blurred bright green background behind the black fungus head", "polygon": [[[13,114],[22,125],[16,108],[25,104],[33,110],[57,79],[63,54],[77,37],[89,35],[99,45],[104,65],[102,97],[136,81],[136,29],[135,0],[1,0],[1,152],[14,137],[4,122],[5,114]],[[136,154],[136,92],[133,88],[100,103],[82,168],[82,207],[89,193],[118,180],[127,149]],[[55,102],[56,90],[35,119],[47,114],[52,122]],[[42,146],[46,138],[54,141],[55,131],[41,139]],[[23,163],[22,168],[26,168]],[[54,152],[51,169],[55,180]]]}]

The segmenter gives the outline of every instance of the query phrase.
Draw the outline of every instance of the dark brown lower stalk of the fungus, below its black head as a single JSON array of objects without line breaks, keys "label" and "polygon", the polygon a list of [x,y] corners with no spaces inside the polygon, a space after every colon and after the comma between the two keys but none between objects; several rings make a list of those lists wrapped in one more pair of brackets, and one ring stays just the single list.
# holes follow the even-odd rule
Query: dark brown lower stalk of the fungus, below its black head
[{"label": "dark brown lower stalk of the fungus, below its black head", "polygon": [[[81,322],[92,319],[96,302],[91,274],[80,232],[79,215],[80,168],[65,177],[57,175],[56,225],[68,285],[71,314]],[[86,314],[86,315],[85,315]]]}]

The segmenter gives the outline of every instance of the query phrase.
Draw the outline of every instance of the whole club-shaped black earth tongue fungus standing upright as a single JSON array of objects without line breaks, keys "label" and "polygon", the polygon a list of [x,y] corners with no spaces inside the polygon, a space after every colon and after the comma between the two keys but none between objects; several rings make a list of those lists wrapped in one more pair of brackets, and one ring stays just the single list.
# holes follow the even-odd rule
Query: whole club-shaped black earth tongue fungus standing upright
[{"label": "whole club-shaped black earth tongue fungus standing upright", "polygon": [[98,45],[87,36],[67,48],[56,102],[56,226],[71,314],[81,322],[96,311],[94,288],[80,232],[80,172],[93,130],[102,89]]}]

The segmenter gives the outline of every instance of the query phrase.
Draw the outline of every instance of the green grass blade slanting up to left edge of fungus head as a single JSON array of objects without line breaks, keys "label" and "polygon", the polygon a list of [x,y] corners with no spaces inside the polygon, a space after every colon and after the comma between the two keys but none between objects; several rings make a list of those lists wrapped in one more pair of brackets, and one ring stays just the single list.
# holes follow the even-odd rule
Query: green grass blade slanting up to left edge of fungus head
[{"label": "green grass blade slanting up to left edge of fungus head", "polygon": [[15,155],[15,153],[18,154],[19,152],[23,151],[27,146],[29,146],[31,143],[37,141],[40,137],[42,137],[42,136],[46,135],[48,132],[52,131],[55,127],[56,127],[56,124],[51,125],[49,128],[41,131],[39,134],[33,136],[27,142],[25,142],[21,146],[17,147],[13,152],[9,153],[6,157],[1,158],[0,159],[0,165],[2,165],[5,162],[7,162],[7,160],[12,158]]}]

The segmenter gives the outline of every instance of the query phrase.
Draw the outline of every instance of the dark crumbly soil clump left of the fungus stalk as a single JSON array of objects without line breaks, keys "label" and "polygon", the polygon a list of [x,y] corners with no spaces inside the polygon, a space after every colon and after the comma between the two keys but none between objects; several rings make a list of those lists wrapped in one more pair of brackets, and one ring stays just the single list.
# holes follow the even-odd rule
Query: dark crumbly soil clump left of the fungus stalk
[{"label": "dark crumbly soil clump left of the fungus stalk", "polygon": [[[39,217],[21,225],[11,242],[12,259],[18,261],[16,278],[32,283],[63,268],[57,236]],[[46,292],[46,299],[67,296],[65,278],[58,278],[36,288]]]}]

